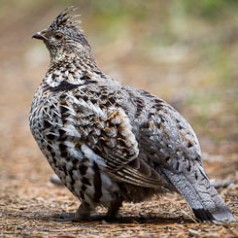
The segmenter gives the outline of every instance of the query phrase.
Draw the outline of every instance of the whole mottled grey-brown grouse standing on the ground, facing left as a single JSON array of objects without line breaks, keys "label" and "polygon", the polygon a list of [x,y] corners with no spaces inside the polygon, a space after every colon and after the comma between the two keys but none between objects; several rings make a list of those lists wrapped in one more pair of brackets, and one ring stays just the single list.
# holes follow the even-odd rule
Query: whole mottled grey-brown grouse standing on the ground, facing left
[{"label": "whole mottled grey-brown grouse standing on the ground, facing left", "polygon": [[80,205],[116,219],[123,202],[177,192],[198,221],[235,218],[211,185],[190,124],[166,101],[122,84],[97,65],[74,7],[32,37],[44,42],[49,68],[33,97],[29,125],[43,155]]}]

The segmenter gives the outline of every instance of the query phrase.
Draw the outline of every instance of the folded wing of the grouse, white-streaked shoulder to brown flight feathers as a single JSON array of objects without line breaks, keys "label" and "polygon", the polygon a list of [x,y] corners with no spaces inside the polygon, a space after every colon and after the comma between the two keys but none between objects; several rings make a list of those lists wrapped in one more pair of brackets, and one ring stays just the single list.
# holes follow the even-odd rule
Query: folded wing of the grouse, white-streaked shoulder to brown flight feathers
[{"label": "folded wing of the grouse, white-streaked shoulder to brown flight feathers", "polygon": [[[160,175],[143,160],[130,121],[123,109],[110,107],[102,110],[90,101],[70,95],[61,99],[64,123],[72,125],[68,134],[86,144],[105,164],[105,170],[114,179],[133,185],[158,188]],[[69,113],[70,112],[70,113]],[[71,115],[70,117],[67,116]],[[64,130],[68,127],[63,127]]]}]

